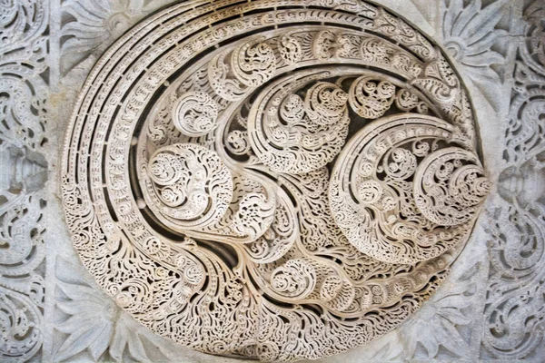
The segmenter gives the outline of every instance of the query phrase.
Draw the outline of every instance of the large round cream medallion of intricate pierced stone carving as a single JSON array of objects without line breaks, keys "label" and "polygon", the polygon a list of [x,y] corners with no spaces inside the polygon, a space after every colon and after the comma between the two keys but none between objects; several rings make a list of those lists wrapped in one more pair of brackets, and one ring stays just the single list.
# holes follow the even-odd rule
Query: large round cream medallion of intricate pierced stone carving
[{"label": "large round cream medallion of intricate pierced stone carving", "polygon": [[437,49],[358,1],[146,18],[98,61],[68,131],[84,265],[144,326],[214,354],[322,358],[394,329],[490,188]]}]

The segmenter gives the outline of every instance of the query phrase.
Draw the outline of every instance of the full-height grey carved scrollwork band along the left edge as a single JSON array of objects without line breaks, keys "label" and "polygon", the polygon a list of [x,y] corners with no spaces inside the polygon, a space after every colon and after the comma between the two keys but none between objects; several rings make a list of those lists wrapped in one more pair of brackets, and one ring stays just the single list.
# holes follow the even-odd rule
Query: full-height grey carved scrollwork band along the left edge
[{"label": "full-height grey carved scrollwork band along the left edge", "polygon": [[0,359],[42,347],[46,1],[0,3]]}]

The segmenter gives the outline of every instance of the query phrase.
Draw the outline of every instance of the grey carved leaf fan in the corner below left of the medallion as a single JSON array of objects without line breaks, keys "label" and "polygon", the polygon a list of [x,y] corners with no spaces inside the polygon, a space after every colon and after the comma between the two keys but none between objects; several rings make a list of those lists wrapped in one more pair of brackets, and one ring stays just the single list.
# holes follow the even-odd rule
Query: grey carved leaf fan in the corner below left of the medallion
[{"label": "grey carved leaf fan in the corner below left of the medallion", "polygon": [[94,361],[127,358],[173,361],[173,343],[145,329],[100,291],[81,267],[59,257],[55,265],[54,330],[64,338],[54,361],[72,361],[86,353]]}]

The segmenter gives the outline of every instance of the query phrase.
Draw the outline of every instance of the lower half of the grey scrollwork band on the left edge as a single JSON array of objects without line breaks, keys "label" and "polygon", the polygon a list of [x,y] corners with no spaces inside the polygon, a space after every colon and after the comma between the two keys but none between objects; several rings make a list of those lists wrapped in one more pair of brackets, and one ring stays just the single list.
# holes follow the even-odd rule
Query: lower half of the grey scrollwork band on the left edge
[{"label": "lower half of the grey scrollwork band on the left edge", "polygon": [[35,271],[45,258],[42,210],[34,193],[5,192],[0,206],[0,353],[11,361],[32,358],[42,347],[45,282]]}]

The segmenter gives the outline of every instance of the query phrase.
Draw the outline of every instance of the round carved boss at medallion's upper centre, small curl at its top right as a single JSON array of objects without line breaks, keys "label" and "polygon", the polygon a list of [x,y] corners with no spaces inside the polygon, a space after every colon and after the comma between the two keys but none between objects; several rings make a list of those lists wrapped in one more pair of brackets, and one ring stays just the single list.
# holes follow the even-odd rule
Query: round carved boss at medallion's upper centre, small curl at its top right
[{"label": "round carved boss at medallion's upper centre, small curl at its top right", "polygon": [[[302,86],[292,77],[271,88]],[[267,89],[269,91],[269,89]],[[348,134],[348,94],[333,83],[319,82],[306,92],[304,102],[289,91],[262,93],[247,120],[252,151],[273,172],[312,172],[341,151]],[[284,98],[284,96],[287,96]],[[282,103],[279,101],[282,100]]]}]

